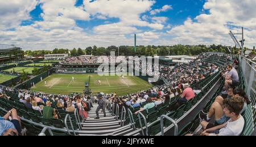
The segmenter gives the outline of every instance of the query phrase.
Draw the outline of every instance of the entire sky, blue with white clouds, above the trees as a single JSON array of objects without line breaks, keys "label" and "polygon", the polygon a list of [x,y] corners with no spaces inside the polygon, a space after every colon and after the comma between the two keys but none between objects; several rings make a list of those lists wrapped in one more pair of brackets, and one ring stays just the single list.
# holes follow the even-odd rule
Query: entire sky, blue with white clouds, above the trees
[{"label": "entire sky, blue with white clouds, above the trees", "polygon": [[107,47],[133,45],[137,33],[138,45],[234,45],[228,33],[243,26],[252,47],[255,7],[255,0],[0,1],[0,41],[24,50]]}]

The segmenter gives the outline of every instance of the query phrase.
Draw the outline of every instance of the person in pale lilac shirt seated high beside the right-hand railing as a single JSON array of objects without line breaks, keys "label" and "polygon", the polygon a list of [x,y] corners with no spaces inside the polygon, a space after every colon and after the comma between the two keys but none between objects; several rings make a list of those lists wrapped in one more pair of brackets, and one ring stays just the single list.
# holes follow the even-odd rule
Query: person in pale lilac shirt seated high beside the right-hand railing
[{"label": "person in pale lilac shirt seated high beside the right-hand railing", "polygon": [[226,76],[225,79],[225,90],[228,90],[229,87],[234,88],[237,87],[239,83],[239,76],[237,73],[236,68],[233,68],[232,65],[228,66],[228,75]]}]

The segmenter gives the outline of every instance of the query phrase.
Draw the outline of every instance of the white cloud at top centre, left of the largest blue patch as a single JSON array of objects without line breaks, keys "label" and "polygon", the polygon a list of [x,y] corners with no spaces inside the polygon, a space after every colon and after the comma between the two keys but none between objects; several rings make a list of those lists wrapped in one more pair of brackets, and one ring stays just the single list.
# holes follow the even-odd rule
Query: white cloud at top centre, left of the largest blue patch
[{"label": "white cloud at top centre, left of the largest blue patch", "polygon": [[[143,12],[150,11],[151,6],[154,5],[155,1],[145,0],[98,0],[90,2],[84,0],[85,10],[99,18],[101,16],[104,18],[118,18],[120,23],[123,24],[123,27],[130,26],[139,26],[139,27],[150,27],[152,29],[162,29],[163,25],[159,23],[148,23],[145,19],[147,16],[144,16],[142,21],[140,15]],[[99,18],[100,19],[100,18]]]}]

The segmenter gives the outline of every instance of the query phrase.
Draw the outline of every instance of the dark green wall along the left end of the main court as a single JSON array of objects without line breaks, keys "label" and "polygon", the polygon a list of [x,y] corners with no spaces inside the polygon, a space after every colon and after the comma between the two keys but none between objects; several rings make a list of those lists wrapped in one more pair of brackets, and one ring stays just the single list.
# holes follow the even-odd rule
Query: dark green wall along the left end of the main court
[{"label": "dark green wall along the left end of the main court", "polygon": [[17,88],[17,89],[29,89],[33,86],[33,83],[34,84],[37,84],[41,81],[41,77],[42,79],[48,77],[49,75],[52,75],[53,74],[53,68],[51,70],[48,70],[38,76],[35,76],[33,77],[32,79],[30,80],[27,80],[27,81],[24,81],[22,84],[19,84],[19,85],[16,85],[16,87],[14,88]]}]

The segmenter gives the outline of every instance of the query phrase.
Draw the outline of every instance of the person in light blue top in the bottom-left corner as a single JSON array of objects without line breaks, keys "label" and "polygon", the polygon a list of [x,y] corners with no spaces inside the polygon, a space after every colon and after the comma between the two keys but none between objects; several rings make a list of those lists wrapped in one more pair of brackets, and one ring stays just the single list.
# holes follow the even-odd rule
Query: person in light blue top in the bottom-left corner
[{"label": "person in light blue top in the bottom-left corner", "polygon": [[[9,121],[11,115],[12,120]],[[15,109],[11,109],[8,113],[0,117],[0,135],[1,136],[16,136],[22,135],[22,127],[20,125],[20,119]]]}]

